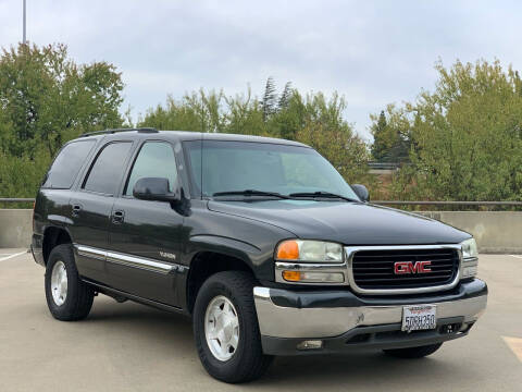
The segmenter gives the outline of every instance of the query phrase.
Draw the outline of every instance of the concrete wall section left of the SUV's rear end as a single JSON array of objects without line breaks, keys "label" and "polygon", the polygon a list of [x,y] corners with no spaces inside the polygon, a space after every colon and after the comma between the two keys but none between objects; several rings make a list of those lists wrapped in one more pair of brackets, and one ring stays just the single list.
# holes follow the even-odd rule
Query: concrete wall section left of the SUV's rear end
[{"label": "concrete wall section left of the SUV's rear end", "polygon": [[0,248],[28,247],[32,235],[32,209],[0,209]]}]

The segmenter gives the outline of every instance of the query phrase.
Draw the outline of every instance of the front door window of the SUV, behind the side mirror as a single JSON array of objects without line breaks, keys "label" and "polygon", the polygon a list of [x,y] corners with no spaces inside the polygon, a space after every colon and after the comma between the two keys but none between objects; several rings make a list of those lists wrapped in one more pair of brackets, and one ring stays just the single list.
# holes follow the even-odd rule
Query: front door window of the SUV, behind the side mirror
[{"label": "front door window of the SUV, behind the side mirror", "polygon": [[163,177],[169,180],[170,191],[177,180],[176,159],[170,144],[147,142],[139,150],[128,176],[125,195],[132,196],[136,182],[142,177]]}]

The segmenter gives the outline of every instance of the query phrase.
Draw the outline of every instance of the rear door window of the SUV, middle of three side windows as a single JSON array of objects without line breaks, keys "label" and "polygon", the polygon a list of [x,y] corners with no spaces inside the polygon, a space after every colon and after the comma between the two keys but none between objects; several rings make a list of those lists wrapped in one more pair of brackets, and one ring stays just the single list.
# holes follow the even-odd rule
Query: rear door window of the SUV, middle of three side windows
[{"label": "rear door window of the SUV, middle of three side windows", "polygon": [[119,142],[103,147],[90,168],[84,189],[114,195],[132,145],[130,142]]}]

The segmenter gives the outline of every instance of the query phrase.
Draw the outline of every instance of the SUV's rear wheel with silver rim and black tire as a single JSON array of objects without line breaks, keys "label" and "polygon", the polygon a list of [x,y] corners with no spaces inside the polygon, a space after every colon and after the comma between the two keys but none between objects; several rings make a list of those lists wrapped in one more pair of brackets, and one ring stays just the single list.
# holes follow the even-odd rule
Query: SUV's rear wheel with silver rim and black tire
[{"label": "SUV's rear wheel with silver rim and black tire", "polygon": [[[53,270],[57,271],[54,281]],[[66,277],[65,281],[63,277]],[[59,278],[62,278],[61,282],[65,283],[58,284],[57,287],[55,281]],[[61,290],[62,285],[63,290]],[[46,266],[45,286],[47,306],[55,319],[76,321],[89,315],[95,292],[79,279],[71,245],[58,245],[51,250]],[[60,296],[57,293],[64,295]]]}]

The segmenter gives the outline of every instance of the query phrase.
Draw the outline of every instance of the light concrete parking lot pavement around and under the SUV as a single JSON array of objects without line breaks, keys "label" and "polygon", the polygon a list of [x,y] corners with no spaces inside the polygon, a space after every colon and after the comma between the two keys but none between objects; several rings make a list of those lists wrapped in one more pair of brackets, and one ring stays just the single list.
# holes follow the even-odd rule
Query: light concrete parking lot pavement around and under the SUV
[{"label": "light concrete parking lot pavement around and under the SUV", "polygon": [[228,385],[201,367],[189,319],[100,295],[86,320],[57,321],[44,268],[0,249],[0,391],[522,391],[522,257],[483,255],[480,277],[486,314],[428,358],[279,357],[263,379]]}]

